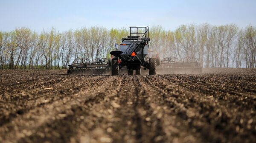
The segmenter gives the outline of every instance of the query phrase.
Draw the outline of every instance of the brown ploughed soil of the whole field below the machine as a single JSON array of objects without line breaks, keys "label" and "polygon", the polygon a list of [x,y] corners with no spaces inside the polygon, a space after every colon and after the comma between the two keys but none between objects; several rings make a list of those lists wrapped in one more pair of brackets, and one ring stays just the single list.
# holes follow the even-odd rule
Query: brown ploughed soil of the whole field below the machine
[{"label": "brown ploughed soil of the whole field below the machine", "polygon": [[255,143],[256,69],[0,70],[0,143]]}]

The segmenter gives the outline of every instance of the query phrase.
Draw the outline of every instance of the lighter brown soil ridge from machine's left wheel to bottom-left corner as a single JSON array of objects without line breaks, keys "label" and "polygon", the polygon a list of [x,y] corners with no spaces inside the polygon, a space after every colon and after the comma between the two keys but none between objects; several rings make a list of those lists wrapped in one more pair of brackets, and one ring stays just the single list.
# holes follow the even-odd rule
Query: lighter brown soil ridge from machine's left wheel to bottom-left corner
[{"label": "lighter brown soil ridge from machine's left wheel to bottom-left corner", "polygon": [[[8,135],[5,136],[4,138],[6,138],[8,140],[12,140],[13,132],[15,130],[17,130],[17,128],[20,131],[23,131],[23,129],[26,129],[26,126],[28,126],[29,124],[32,124],[34,126],[30,126],[30,128],[27,130],[29,130],[31,132],[35,131],[35,129],[37,129],[38,126],[40,126],[44,122],[47,121],[47,123],[49,123],[48,120],[54,121],[56,119],[56,116],[58,116],[58,114],[60,112],[65,112],[66,110],[72,108],[72,106],[74,106],[74,105],[81,104],[81,103],[85,102],[86,100],[90,100],[90,98],[92,98],[96,95],[93,93],[100,92],[101,90],[105,91],[105,88],[100,88],[100,87],[104,87],[105,86],[104,83],[113,80],[113,79],[110,79],[109,76],[106,76],[106,77],[108,77],[107,80],[104,78],[102,79],[102,77],[98,77],[97,79],[99,79],[99,80],[92,82],[93,86],[90,89],[81,88],[79,93],[76,93],[76,94],[70,95],[70,96],[66,96],[65,98],[62,98],[61,100],[53,101],[51,104],[45,104],[44,108],[36,107],[35,109],[29,110],[29,112],[26,112],[25,114],[15,118],[11,124],[7,124],[7,125],[3,126],[2,128],[0,128],[0,132],[5,132],[5,134],[8,134]],[[93,80],[91,80],[91,81],[93,81]],[[86,82],[88,82],[88,81],[86,81]],[[95,85],[97,85],[97,86],[95,86]],[[84,86],[86,86],[86,83],[84,83]],[[43,117],[43,115],[44,115],[44,117]],[[15,129],[15,130],[13,130],[13,129]],[[23,137],[25,135],[26,134],[24,134],[23,132],[17,132],[17,134],[16,134],[17,138]],[[16,140],[17,140],[17,138],[16,138]]]}]

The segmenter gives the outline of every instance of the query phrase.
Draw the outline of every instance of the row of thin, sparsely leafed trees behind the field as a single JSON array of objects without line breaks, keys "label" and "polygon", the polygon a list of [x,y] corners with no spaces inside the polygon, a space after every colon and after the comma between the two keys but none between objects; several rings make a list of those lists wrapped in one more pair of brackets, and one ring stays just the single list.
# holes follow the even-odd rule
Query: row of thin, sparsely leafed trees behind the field
[{"label": "row of thin, sparsely leafed trees behind the field", "polygon": [[[127,28],[99,26],[64,32],[30,28],[0,31],[0,69],[63,69],[79,57],[109,57]],[[174,31],[149,28],[150,50],[163,59],[197,58],[204,67],[256,67],[256,27],[180,25]]]}]

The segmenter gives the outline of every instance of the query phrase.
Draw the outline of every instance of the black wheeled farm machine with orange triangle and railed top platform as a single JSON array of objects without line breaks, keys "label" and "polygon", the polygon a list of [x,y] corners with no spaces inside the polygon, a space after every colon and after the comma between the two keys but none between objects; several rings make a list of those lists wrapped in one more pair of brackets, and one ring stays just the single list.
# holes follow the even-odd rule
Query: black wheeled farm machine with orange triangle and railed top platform
[{"label": "black wheeled farm machine with orange triangle and railed top platform", "polygon": [[156,58],[145,58],[148,55],[150,42],[148,27],[130,27],[130,35],[122,38],[119,48],[111,51],[111,75],[119,75],[119,70],[127,68],[127,74],[141,74],[141,70],[148,69],[149,75],[156,74]]}]

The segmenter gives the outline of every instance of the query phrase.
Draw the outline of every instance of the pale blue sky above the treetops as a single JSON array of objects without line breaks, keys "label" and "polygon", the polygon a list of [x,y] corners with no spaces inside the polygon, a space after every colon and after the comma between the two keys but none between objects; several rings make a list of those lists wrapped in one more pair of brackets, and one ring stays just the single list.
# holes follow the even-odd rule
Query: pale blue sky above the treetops
[{"label": "pale blue sky above the treetops", "polygon": [[55,27],[237,24],[256,26],[256,0],[0,0],[0,31]]}]

